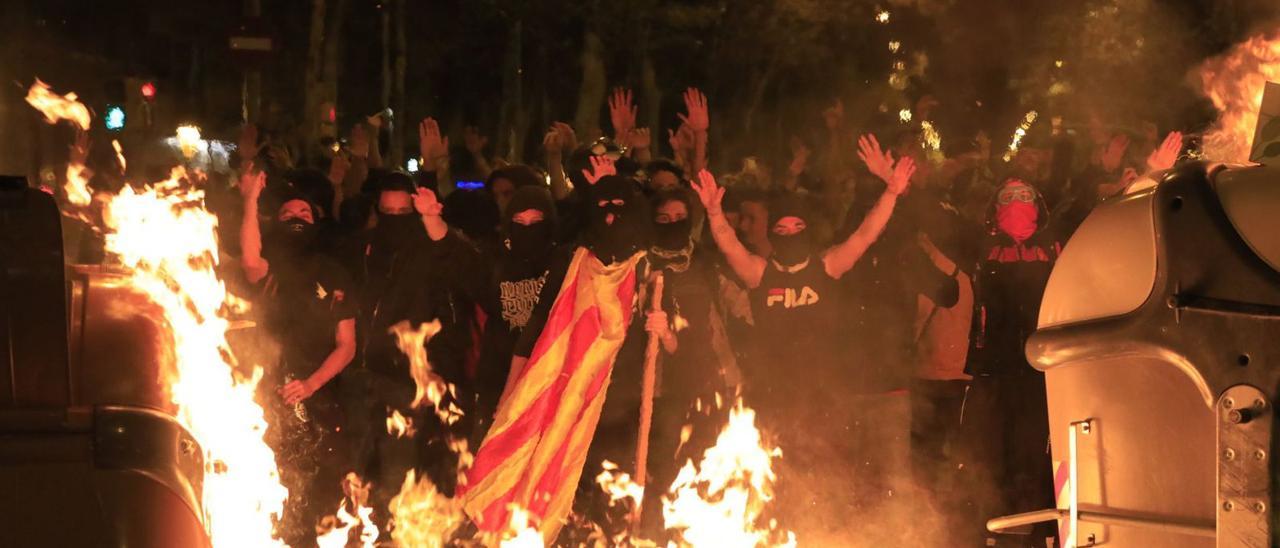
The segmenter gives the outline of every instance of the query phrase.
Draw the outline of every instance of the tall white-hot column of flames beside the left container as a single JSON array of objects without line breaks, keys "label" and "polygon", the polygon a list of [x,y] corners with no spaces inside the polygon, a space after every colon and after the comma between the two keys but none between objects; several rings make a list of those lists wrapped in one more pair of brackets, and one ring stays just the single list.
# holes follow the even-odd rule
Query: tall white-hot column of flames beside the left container
[{"label": "tall white-hot column of flames beside the left container", "polygon": [[287,492],[262,440],[253,401],[260,367],[239,375],[227,346],[227,288],[218,275],[218,219],[204,192],[174,169],[141,191],[125,186],[104,207],[106,251],[129,284],[164,310],[173,337],[170,397],[177,419],[205,451],[205,525],[215,547],[282,545],[273,516]]}]

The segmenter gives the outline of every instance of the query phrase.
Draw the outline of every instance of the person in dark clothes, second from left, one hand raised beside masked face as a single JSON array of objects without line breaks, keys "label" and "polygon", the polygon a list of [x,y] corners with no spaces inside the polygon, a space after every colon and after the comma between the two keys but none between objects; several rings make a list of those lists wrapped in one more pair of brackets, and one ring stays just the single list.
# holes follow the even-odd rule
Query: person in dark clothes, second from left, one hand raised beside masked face
[{"label": "person in dark clothes, second from left, one hand raised beside masked face", "polygon": [[[471,324],[475,303],[468,279],[481,275],[470,242],[448,230],[443,206],[435,193],[415,188],[408,174],[393,172],[375,182],[375,225],[357,234],[346,247],[361,294],[358,318],[361,341],[360,380],[346,393],[352,415],[349,424],[357,471],[372,478],[374,507],[398,492],[404,472],[416,469],[444,493],[452,493],[457,457],[445,438],[470,435],[474,411],[471,379],[466,362],[474,344]],[[421,205],[419,202],[422,202]],[[442,406],[457,406],[462,421],[444,424],[428,406],[411,408],[415,382],[408,359],[397,344],[392,328],[407,323],[417,328],[438,320],[440,330],[426,343],[433,373],[454,389]],[[399,411],[415,424],[415,435],[387,433],[390,411]],[[375,512],[375,520],[385,515]]]}]

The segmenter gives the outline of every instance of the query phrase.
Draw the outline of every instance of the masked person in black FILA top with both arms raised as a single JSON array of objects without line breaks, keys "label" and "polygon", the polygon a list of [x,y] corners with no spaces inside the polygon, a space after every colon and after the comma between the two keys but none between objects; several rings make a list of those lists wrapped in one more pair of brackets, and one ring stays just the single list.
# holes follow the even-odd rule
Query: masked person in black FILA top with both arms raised
[{"label": "masked person in black FILA top with both arms raised", "polygon": [[[879,237],[915,172],[910,157],[896,165],[878,155],[881,160],[887,161],[884,169],[873,172],[884,179],[884,192],[858,229],[832,247],[812,236],[818,222],[814,205],[795,195],[773,201],[768,236],[773,252],[768,257],[751,254],[737,239],[721,210],[724,191],[712,174],[701,172],[694,183],[716,245],[749,288],[754,334],[760,344],[753,361],[742,367],[745,397],[760,410],[762,420],[772,423],[771,430],[780,433],[791,466],[818,470],[831,461],[833,446],[828,440],[849,435],[850,425],[841,411],[845,402],[840,391],[829,388],[852,374],[847,350],[835,329],[842,318],[837,280]],[[812,513],[818,501],[833,501],[840,493],[812,488],[792,492],[783,483],[780,497],[787,501],[781,507]],[[804,515],[796,512],[787,517],[803,521]]]}]

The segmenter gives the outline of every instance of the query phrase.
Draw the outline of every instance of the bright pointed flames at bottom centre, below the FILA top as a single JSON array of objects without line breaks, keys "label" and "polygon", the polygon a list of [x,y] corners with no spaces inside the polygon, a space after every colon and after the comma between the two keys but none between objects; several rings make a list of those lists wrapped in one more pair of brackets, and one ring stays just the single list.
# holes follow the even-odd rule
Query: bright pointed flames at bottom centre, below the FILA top
[{"label": "bright pointed flames at bottom centre, below the FILA top", "polygon": [[795,534],[762,513],[773,499],[774,457],[755,428],[755,411],[739,402],[716,446],[699,465],[685,463],[663,497],[663,519],[682,547],[794,547]]}]

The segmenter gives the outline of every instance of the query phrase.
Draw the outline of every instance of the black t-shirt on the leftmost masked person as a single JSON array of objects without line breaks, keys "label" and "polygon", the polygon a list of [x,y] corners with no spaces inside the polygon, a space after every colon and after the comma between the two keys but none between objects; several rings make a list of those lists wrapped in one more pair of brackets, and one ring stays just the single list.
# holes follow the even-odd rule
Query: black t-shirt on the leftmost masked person
[{"label": "black t-shirt on the leftmost masked person", "polygon": [[338,323],[356,318],[352,280],[337,261],[320,254],[276,255],[268,261],[259,305],[268,332],[280,343],[276,373],[306,379],[333,352]]}]

